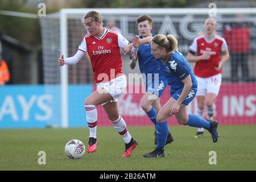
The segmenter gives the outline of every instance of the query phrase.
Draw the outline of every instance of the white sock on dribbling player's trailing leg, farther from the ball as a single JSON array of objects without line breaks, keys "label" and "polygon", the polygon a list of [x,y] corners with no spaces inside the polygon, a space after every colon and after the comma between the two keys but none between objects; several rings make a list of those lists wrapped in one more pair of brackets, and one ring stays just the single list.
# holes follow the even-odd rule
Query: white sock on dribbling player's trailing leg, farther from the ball
[{"label": "white sock on dribbling player's trailing leg, farther from the ball", "polygon": [[130,143],[131,141],[131,135],[129,131],[127,130],[125,120],[119,115],[119,118],[115,121],[111,121],[115,127],[115,130],[118,131],[118,133],[123,137],[123,140],[125,140],[125,143]]}]

